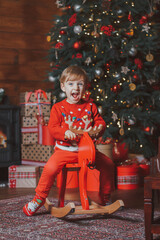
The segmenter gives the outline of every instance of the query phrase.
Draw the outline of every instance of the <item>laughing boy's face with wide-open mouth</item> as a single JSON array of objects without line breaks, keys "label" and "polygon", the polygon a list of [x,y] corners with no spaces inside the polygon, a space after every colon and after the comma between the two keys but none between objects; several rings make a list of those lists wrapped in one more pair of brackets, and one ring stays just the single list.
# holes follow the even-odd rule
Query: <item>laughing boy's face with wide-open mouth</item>
[{"label": "laughing boy's face with wide-open mouth", "polygon": [[61,83],[61,89],[66,93],[67,102],[71,104],[77,104],[82,99],[82,96],[85,92],[85,82],[81,78],[79,80],[67,80],[64,83]]}]

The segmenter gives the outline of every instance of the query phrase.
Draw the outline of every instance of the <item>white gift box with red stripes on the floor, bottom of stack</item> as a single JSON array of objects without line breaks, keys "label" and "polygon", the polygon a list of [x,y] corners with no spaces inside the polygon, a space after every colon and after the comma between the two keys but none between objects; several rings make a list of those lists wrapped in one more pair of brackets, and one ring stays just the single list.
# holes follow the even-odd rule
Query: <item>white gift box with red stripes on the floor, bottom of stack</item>
[{"label": "white gift box with red stripes on the floor, bottom of stack", "polygon": [[39,177],[39,167],[13,165],[8,168],[10,188],[35,188]]}]

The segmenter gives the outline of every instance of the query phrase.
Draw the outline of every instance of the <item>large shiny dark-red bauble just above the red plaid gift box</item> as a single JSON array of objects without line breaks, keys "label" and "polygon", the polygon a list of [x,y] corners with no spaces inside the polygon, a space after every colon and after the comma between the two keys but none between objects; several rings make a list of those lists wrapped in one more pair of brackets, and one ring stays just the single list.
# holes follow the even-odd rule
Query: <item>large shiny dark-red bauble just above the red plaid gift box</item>
[{"label": "large shiny dark-red bauble just above the red plaid gift box", "polygon": [[114,143],[112,157],[114,162],[123,162],[128,159],[128,148],[126,143]]}]

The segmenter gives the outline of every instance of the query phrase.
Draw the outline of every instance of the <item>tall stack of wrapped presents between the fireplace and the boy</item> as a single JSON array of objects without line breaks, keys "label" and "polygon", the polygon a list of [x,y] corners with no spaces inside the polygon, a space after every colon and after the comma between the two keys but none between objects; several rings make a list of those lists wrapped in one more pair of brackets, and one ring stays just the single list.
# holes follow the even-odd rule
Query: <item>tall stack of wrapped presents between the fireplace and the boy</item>
[{"label": "tall stack of wrapped presents between the fireplace and the boy", "polygon": [[54,140],[48,130],[51,92],[41,89],[20,94],[21,163],[9,167],[9,187],[36,187],[43,166],[53,154]]}]

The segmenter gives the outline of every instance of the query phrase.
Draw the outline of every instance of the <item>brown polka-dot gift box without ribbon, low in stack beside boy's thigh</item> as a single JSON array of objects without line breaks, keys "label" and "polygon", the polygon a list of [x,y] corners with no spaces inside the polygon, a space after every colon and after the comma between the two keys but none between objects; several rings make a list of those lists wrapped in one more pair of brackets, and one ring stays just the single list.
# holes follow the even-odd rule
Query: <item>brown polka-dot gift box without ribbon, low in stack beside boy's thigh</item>
[{"label": "brown polka-dot gift box without ribbon, low in stack beside boy's thigh", "polygon": [[23,160],[35,161],[35,162],[47,162],[53,154],[53,146],[33,144],[33,145],[21,145],[21,158]]}]

